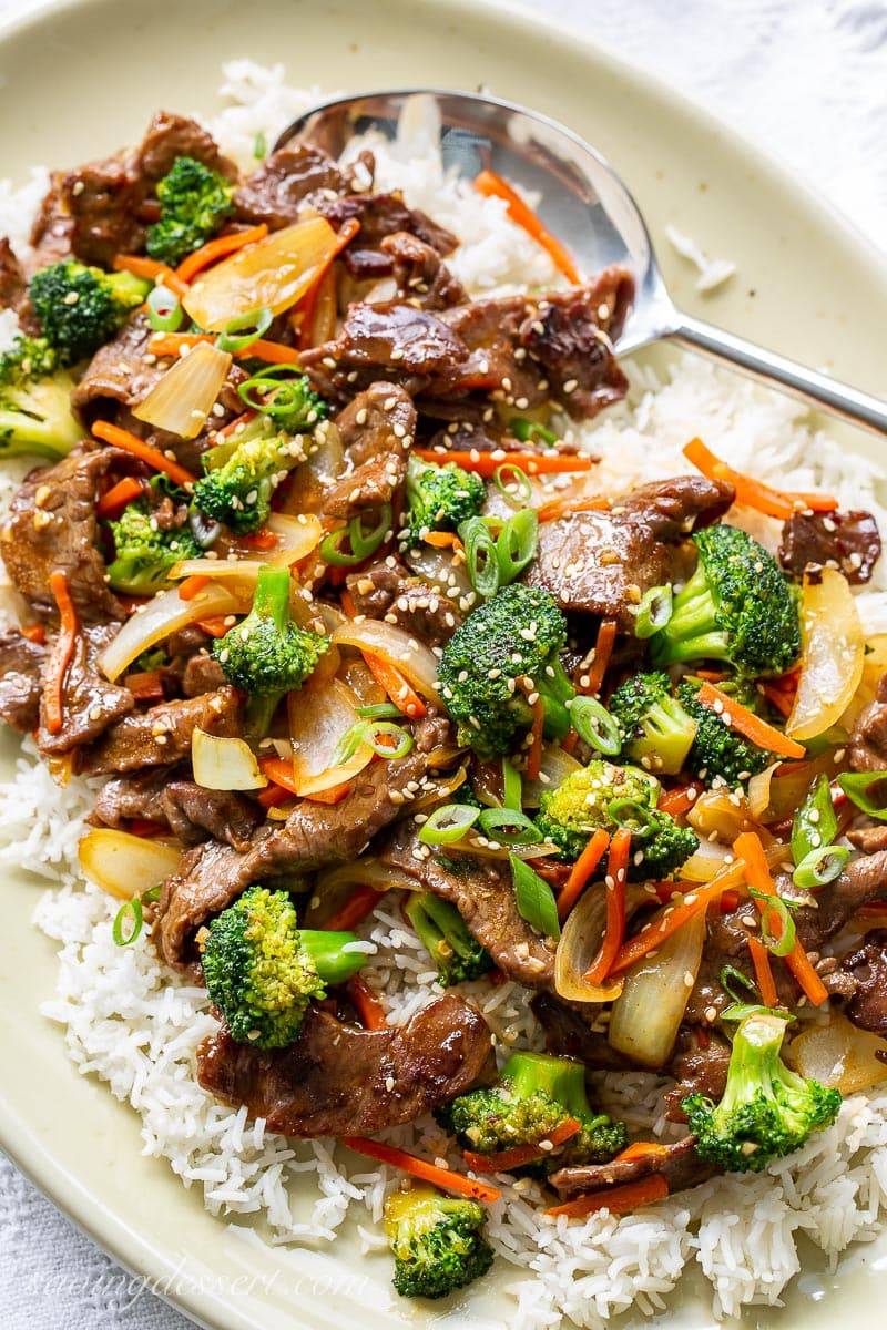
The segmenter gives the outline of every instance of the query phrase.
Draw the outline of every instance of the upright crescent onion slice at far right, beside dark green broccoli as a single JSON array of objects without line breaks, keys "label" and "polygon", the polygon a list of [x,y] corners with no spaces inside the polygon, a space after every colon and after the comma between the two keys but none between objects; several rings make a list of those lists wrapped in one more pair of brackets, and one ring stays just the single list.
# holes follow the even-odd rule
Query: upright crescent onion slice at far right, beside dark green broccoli
[{"label": "upright crescent onion slice at far right, beside dark green broccoli", "polygon": [[866,637],[847,579],[836,568],[805,576],[801,678],[786,722],[793,739],[813,739],[852,701],[866,661]]}]

